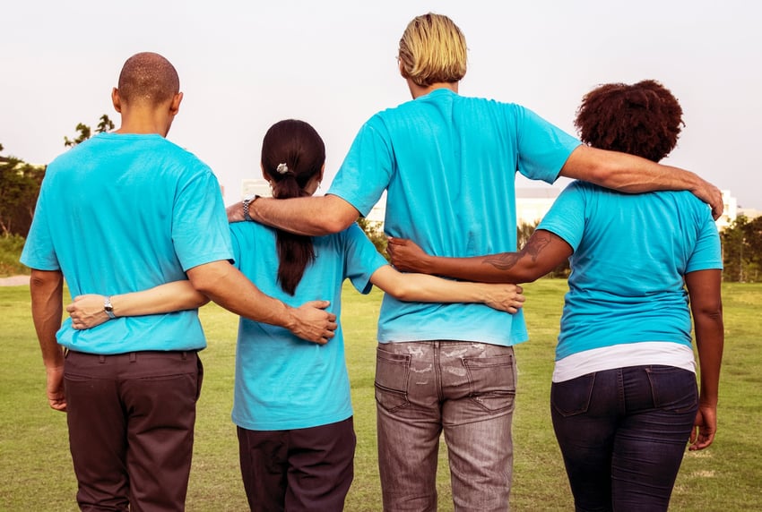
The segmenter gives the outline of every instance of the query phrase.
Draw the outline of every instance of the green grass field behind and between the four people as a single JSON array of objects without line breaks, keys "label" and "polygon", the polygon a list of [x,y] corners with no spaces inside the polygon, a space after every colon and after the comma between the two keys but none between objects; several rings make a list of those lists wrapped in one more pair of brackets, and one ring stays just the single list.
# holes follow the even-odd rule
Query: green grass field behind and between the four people
[{"label": "green grass field behind and between the four people", "polygon": [[[514,510],[573,510],[559,448],[550,425],[548,397],[563,280],[526,286],[532,340],[516,347],[519,392],[514,421]],[[725,356],[719,431],[714,445],[686,453],[671,510],[762,510],[762,285],[723,286]],[[375,330],[380,294],[344,294],[358,451],[347,499],[351,512],[380,510],[376,469]],[[45,373],[30,318],[28,286],[0,288],[5,363],[0,366],[0,510],[76,510],[76,482],[68,453],[65,414],[48,408]],[[187,509],[246,510],[238,475],[232,403],[236,318],[216,305],[202,310],[209,348],[198,406],[194,467]],[[444,443],[443,443],[444,444]],[[445,449],[438,474],[439,509],[452,510]]]}]

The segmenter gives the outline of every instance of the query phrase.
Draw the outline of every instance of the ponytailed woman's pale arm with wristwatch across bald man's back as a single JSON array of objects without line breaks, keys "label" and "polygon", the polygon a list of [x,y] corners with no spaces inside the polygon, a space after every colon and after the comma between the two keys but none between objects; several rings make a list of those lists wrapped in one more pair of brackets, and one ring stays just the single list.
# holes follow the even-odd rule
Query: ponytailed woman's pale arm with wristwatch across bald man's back
[{"label": "ponytailed woman's pale arm with wristwatch across bald man's back", "polygon": [[[84,294],[74,297],[66,306],[74,329],[90,329],[108,321],[103,309],[104,295]],[[194,310],[208,303],[204,294],[195,290],[190,281],[174,281],[131,294],[111,295],[111,305],[117,317],[134,317]]]}]

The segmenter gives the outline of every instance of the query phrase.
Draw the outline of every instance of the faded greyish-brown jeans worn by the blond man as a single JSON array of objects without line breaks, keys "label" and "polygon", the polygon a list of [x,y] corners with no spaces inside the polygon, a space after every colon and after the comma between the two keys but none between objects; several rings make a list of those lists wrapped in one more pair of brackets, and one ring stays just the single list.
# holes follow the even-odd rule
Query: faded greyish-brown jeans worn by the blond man
[{"label": "faded greyish-brown jeans worn by the blond man", "polygon": [[461,341],[379,344],[378,468],[384,509],[437,509],[445,433],[455,510],[508,509],[514,351]]}]

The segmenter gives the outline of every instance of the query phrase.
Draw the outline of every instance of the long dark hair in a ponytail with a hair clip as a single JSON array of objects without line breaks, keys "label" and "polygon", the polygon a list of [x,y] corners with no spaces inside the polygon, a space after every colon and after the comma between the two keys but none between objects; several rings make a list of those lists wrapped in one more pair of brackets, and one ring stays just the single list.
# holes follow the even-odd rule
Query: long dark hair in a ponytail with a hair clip
[{"label": "long dark hair in a ponytail with a hair clip", "polygon": [[[273,124],[264,134],[262,167],[273,184],[273,197],[309,195],[307,184],[325,164],[325,144],[315,128],[295,119]],[[278,284],[293,295],[307,265],[315,260],[312,238],[277,230]]]}]

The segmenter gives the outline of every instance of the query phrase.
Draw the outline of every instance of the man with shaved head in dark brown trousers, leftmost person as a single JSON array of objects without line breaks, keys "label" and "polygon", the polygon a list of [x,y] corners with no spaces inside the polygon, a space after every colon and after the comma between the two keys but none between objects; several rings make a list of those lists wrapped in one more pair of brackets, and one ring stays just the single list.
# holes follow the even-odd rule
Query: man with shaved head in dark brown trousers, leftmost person
[{"label": "man with shaved head in dark brown trousers, leftmost person", "polygon": [[[203,375],[197,353],[206,346],[198,307],[212,299],[320,344],[336,318],[327,301],[293,308],[263,294],[230,264],[216,177],[166,139],[183,99],[166,58],[127,59],[111,97],[119,129],[48,166],[22,262],[32,269],[48,402],[67,413],[80,508],[183,510]],[[170,288],[158,306],[133,310],[142,316],[121,316],[111,301],[186,279],[189,292]],[[110,320],[62,325],[64,282],[73,297],[106,290]]]}]

